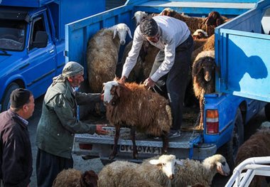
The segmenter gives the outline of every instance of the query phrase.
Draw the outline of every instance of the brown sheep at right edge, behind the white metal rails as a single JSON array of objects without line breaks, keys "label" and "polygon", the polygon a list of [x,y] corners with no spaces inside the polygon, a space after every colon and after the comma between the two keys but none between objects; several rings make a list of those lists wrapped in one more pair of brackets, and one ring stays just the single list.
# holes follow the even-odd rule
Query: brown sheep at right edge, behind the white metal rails
[{"label": "brown sheep at right edge, behind the white metal rails", "polygon": [[[270,155],[270,129],[259,129],[252,135],[247,141],[239,147],[237,157],[235,160],[235,166],[239,165],[245,159],[257,156],[269,156]],[[261,186],[261,182],[264,180],[264,176],[254,176],[252,186]]]}]

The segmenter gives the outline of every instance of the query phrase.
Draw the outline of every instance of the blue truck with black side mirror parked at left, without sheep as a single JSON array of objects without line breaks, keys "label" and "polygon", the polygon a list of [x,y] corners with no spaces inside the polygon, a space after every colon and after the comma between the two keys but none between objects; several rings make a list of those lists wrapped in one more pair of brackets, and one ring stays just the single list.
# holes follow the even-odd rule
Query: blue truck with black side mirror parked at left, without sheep
[{"label": "blue truck with black side mirror parked at left, without sheep", "polygon": [[45,93],[65,65],[65,24],[105,10],[105,1],[0,1],[0,111],[12,90]]}]

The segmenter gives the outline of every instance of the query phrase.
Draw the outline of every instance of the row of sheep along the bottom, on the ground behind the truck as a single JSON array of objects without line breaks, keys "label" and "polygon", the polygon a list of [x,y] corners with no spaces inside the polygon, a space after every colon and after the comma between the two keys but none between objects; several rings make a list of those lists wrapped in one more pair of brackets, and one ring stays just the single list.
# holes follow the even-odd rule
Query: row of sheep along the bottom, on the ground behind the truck
[{"label": "row of sheep along the bottom, on the ground behind the truck", "polygon": [[[61,171],[53,186],[99,186],[99,187],[158,187],[158,186],[211,186],[216,173],[229,175],[224,156],[215,154],[204,161],[178,160],[174,155],[161,155],[146,159],[141,164],[114,161],[104,166],[98,175],[92,171],[68,169]],[[75,177],[74,177],[75,176]]]}]

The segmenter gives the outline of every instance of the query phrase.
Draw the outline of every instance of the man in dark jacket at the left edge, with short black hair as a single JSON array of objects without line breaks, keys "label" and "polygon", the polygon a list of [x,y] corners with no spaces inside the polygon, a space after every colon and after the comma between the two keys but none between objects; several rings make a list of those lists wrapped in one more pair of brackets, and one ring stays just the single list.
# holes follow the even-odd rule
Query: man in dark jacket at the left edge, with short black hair
[{"label": "man in dark jacket at the left edge, with short black hair", "polygon": [[26,119],[35,103],[33,94],[22,88],[11,92],[10,102],[10,109],[0,114],[0,179],[5,187],[26,187],[33,171]]}]

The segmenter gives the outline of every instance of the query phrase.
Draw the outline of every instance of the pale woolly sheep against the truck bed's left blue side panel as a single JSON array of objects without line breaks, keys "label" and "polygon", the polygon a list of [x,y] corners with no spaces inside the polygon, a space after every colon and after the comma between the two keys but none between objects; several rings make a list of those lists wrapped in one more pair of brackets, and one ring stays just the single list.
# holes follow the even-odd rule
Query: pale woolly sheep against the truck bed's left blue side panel
[{"label": "pale woolly sheep against the truck bed's left blue side panel", "polygon": [[102,28],[87,44],[87,75],[91,92],[101,92],[102,82],[113,80],[118,62],[120,44],[126,43],[131,31],[124,23]]}]

